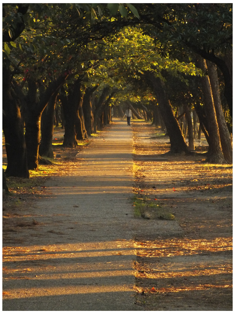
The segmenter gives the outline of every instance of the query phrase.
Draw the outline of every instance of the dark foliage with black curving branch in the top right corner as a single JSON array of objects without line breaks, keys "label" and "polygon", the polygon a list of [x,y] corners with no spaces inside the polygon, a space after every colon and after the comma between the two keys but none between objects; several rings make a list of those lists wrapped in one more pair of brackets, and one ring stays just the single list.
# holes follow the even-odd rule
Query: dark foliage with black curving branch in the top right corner
[{"label": "dark foliage with black curving branch in the top right corner", "polygon": [[148,3],[135,7],[144,31],[161,42],[163,55],[191,51],[220,68],[232,116],[232,4]]}]

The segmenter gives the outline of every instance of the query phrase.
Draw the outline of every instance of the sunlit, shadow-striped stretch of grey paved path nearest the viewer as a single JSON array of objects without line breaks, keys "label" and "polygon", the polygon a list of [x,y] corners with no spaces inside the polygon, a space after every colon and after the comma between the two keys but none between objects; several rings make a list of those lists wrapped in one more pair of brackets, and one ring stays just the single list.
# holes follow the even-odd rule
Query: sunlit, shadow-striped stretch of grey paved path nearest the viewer
[{"label": "sunlit, shadow-striped stretch of grey paved path nearest the viewer", "polygon": [[131,241],[117,239],[73,245],[4,247],[3,298],[133,291],[130,284],[132,245]]}]

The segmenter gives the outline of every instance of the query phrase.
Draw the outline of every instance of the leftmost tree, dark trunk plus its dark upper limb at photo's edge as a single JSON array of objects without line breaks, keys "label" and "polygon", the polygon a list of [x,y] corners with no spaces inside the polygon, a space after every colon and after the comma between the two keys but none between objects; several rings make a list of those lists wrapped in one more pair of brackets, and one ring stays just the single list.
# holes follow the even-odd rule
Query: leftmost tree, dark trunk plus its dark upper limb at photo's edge
[{"label": "leftmost tree, dark trunk plus its dark upper limb at photo's edge", "polygon": [[[3,27],[3,42],[12,42],[20,36],[25,28],[24,15],[29,5],[19,4],[16,13],[6,17]],[[3,9],[3,17],[6,12]],[[7,49],[9,48],[4,45]],[[27,165],[26,145],[24,139],[24,125],[21,119],[20,108],[11,89],[10,61],[3,53],[3,133],[5,135],[8,165],[6,175],[29,177]]]}]

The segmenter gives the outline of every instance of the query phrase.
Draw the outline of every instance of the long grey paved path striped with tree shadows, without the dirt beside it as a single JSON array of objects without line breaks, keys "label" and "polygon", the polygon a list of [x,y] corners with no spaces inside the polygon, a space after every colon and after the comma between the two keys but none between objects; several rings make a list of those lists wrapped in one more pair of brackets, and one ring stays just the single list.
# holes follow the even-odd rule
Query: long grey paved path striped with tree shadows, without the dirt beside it
[{"label": "long grey paved path striped with tree shadows, without the dirt beside it", "polygon": [[[77,155],[78,169],[47,183],[36,228],[11,248],[4,311],[134,311],[133,236],[180,233],[175,221],[135,218],[132,129],[116,121]],[[26,240],[27,239],[27,240]]]}]

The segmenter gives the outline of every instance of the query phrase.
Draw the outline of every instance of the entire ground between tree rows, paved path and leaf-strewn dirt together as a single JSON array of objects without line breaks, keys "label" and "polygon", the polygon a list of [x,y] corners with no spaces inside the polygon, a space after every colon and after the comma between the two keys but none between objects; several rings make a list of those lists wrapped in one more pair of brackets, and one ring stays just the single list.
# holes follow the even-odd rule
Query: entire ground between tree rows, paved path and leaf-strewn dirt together
[{"label": "entire ground between tree rows, paved path and leaf-strewn dirt together", "polygon": [[[231,310],[231,166],[159,156],[168,141],[115,121],[44,198],[4,212],[3,310]],[[138,217],[137,198],[175,219]]]}]

